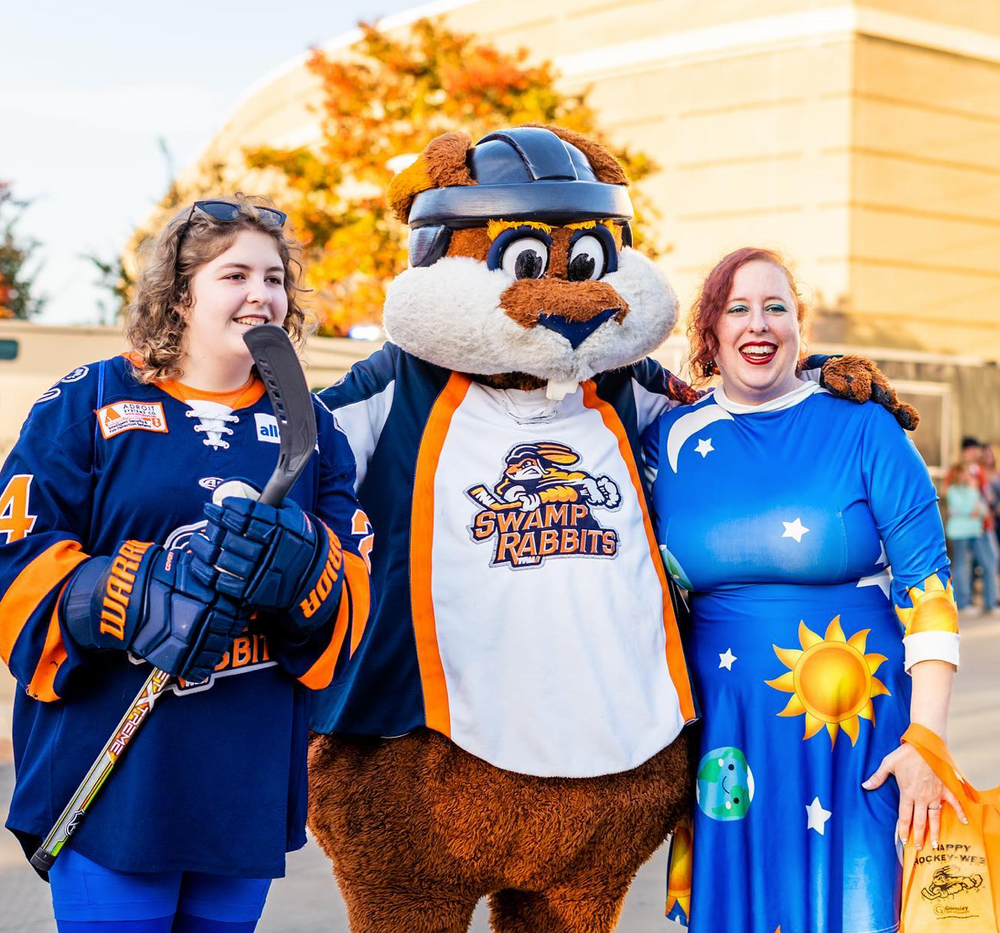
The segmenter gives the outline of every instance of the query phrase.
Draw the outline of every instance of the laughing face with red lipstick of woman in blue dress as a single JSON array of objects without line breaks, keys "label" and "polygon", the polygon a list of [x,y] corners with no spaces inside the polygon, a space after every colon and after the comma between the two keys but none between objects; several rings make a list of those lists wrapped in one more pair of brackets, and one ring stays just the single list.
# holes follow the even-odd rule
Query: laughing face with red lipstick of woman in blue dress
[{"label": "laughing face with red lipstick of woman in blue dress", "polygon": [[736,270],[715,336],[715,362],[733,401],[759,405],[798,385],[798,304],[773,263],[754,260]]}]

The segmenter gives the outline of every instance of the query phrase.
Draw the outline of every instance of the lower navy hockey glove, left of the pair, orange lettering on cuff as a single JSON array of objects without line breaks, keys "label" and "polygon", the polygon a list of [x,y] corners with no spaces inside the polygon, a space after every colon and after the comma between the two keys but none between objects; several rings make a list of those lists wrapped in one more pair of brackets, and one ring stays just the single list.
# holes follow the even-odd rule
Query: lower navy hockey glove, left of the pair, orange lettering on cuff
[{"label": "lower navy hockey glove, left of the pair, orange lettering on cuff", "polygon": [[82,648],[118,648],[192,683],[204,680],[246,628],[238,604],[191,572],[190,551],[123,542],[81,564],[60,617]]}]

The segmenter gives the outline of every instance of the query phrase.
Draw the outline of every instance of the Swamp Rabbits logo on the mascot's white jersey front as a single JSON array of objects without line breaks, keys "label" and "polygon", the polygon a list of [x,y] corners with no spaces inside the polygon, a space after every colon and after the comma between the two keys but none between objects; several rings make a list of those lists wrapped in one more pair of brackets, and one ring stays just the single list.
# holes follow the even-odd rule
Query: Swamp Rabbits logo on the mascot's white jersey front
[{"label": "Swamp Rabbits logo on the mascot's white jersey front", "polygon": [[480,506],[469,525],[476,542],[493,541],[492,566],[539,567],[548,557],[618,554],[618,532],[605,528],[594,509],[614,510],[621,491],[610,476],[579,468],[580,455],[557,441],[515,444],[492,490],[465,494]]}]

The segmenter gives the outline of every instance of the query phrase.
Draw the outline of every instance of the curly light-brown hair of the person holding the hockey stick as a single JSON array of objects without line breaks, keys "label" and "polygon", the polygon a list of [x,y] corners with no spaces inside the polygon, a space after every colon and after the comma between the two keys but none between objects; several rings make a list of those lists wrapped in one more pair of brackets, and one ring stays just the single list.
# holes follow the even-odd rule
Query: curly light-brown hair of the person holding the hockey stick
[{"label": "curly light-brown hair of the person holding the hockey stick", "polygon": [[[258,207],[272,207],[268,198],[236,192],[216,200],[238,205],[232,220],[218,220],[187,205],[143,249],[135,295],[125,309],[125,339],[132,348],[136,378],[141,382],[174,379],[183,372],[184,311],[191,307],[191,278],[206,262],[224,253],[242,230],[266,233],[274,240],[284,269],[288,313],[282,327],[301,347],[312,327],[299,304],[302,292],[298,245],[283,227],[266,223]],[[188,217],[191,218],[188,223]]]}]

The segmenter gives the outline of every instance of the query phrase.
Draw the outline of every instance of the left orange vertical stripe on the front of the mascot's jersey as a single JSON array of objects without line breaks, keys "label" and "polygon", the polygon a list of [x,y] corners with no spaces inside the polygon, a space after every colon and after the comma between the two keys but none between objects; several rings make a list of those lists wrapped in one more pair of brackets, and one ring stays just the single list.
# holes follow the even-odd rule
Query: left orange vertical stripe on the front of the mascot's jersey
[{"label": "left orange vertical stripe on the front of the mascot's jersey", "polygon": [[417,663],[424,692],[427,726],[451,735],[448,686],[444,679],[441,652],[437,643],[437,623],[431,593],[431,547],[434,543],[434,476],[448,428],[462,404],[472,381],[452,373],[434,402],[424,436],[420,440],[417,470],[413,482],[413,510],[410,523],[410,606],[413,634],[417,643]]}]

